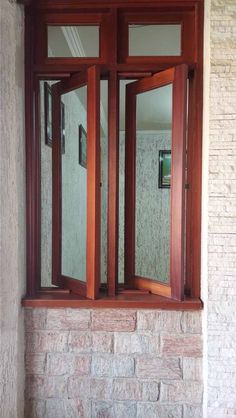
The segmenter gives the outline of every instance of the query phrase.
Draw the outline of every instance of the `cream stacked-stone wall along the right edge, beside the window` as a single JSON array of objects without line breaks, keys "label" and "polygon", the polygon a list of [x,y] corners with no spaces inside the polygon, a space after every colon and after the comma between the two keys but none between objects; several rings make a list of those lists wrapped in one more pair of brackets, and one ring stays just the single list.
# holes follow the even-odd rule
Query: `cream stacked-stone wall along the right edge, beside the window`
[{"label": "cream stacked-stone wall along the right edge, beside the window", "polygon": [[236,416],[236,2],[211,1],[208,417]]}]

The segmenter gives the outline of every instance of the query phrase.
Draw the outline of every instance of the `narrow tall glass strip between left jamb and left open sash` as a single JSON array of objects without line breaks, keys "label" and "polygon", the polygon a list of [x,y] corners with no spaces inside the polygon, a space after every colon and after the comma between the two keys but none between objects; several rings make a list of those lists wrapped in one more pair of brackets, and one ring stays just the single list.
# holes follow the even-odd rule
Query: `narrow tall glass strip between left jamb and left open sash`
[{"label": "narrow tall glass strip between left jamb and left open sash", "polygon": [[52,95],[56,81],[40,81],[41,285],[52,280]]}]

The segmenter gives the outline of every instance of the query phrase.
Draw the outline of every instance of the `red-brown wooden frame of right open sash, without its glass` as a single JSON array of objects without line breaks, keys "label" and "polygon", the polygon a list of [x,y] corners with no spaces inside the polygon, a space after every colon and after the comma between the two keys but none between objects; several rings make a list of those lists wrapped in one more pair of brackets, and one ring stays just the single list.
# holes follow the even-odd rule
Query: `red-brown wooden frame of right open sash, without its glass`
[{"label": "red-brown wooden frame of right open sash, without its glass", "polygon": [[[187,110],[186,64],[159,72],[126,87],[125,153],[125,280],[134,287],[148,289],[161,296],[182,300],[184,297],[185,234],[185,155]],[[170,284],[135,274],[135,207],[136,207],[136,96],[166,85],[173,85]],[[148,204],[148,202],[147,202]]]}]

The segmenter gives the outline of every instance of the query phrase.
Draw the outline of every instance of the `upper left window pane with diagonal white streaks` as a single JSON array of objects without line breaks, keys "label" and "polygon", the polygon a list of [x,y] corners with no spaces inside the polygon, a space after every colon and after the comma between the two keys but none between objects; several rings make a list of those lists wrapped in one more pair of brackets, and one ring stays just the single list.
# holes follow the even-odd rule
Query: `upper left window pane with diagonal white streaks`
[{"label": "upper left window pane with diagonal white streaks", "polygon": [[99,26],[48,26],[49,58],[99,57]]}]

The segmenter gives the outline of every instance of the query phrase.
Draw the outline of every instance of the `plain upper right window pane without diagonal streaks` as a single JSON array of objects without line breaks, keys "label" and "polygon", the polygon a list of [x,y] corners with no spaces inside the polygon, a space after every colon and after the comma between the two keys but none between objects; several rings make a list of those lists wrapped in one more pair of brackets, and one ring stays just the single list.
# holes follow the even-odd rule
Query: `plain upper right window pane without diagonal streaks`
[{"label": "plain upper right window pane without diagonal streaks", "polygon": [[181,25],[129,25],[129,56],[181,55]]}]

